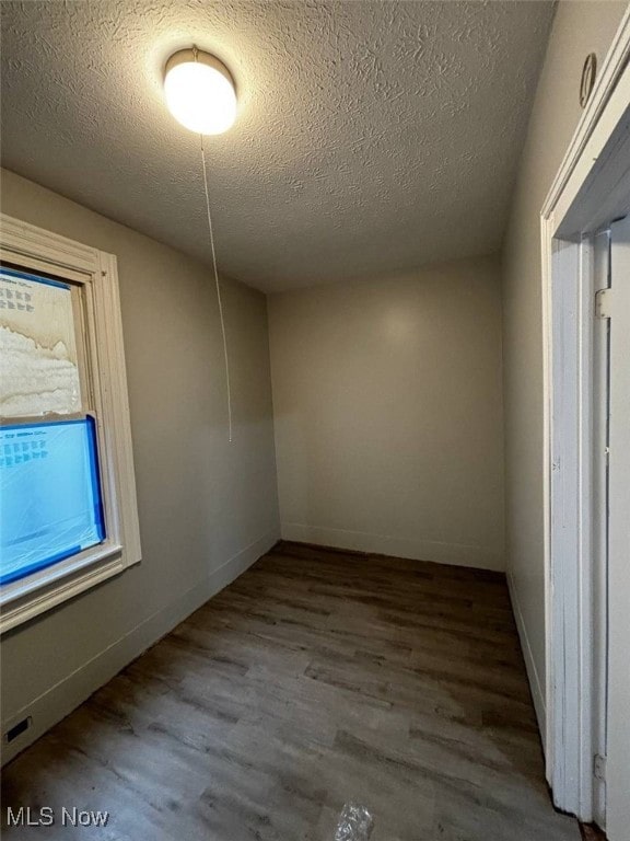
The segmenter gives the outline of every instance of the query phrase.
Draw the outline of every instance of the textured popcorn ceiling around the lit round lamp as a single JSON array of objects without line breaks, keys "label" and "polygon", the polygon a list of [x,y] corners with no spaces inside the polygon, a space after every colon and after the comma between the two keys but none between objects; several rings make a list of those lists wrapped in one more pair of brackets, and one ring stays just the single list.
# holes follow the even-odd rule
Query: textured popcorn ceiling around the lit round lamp
[{"label": "textured popcorn ceiling around the lit round lamp", "polygon": [[265,290],[500,246],[549,2],[12,2],[3,165],[209,263],[199,138],[162,99],[215,53],[235,127],[208,138],[221,269]]}]

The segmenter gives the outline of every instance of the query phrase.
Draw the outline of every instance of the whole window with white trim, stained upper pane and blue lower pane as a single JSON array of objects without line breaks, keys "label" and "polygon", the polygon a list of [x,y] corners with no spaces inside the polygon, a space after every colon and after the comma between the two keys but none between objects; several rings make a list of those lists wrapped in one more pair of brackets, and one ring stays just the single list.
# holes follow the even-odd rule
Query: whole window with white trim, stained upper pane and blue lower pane
[{"label": "whole window with white trim, stained upper pane and blue lower pane", "polygon": [[0,629],[140,541],[116,260],[1,217]]}]

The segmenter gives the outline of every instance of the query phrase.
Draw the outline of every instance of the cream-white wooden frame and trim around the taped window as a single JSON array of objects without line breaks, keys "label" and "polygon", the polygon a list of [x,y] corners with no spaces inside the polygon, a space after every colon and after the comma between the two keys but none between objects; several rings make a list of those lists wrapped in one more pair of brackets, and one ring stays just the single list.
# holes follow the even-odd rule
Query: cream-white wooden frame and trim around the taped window
[{"label": "cream-white wooden frame and trim around the taped window", "polygon": [[82,286],[105,540],[0,589],[0,633],[141,560],[116,257],[0,214],[2,260]]}]

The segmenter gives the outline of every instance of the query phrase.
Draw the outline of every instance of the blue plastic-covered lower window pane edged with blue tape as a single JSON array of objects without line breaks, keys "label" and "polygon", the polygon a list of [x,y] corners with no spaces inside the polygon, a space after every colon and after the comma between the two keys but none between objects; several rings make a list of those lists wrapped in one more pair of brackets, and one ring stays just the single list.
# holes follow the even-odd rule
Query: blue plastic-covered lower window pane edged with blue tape
[{"label": "blue plastic-covered lower window pane edged with blue tape", "polygon": [[94,419],[0,427],[0,584],[104,539]]}]

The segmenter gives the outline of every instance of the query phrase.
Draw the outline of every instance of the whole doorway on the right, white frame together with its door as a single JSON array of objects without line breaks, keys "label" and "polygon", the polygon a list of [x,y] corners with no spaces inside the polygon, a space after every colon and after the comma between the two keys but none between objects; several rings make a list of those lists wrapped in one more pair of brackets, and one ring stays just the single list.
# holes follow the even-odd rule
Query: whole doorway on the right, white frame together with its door
[{"label": "whole doorway on the right, white frame together with its door", "polygon": [[630,822],[629,55],[627,14],[541,220],[547,779],[610,841]]}]

